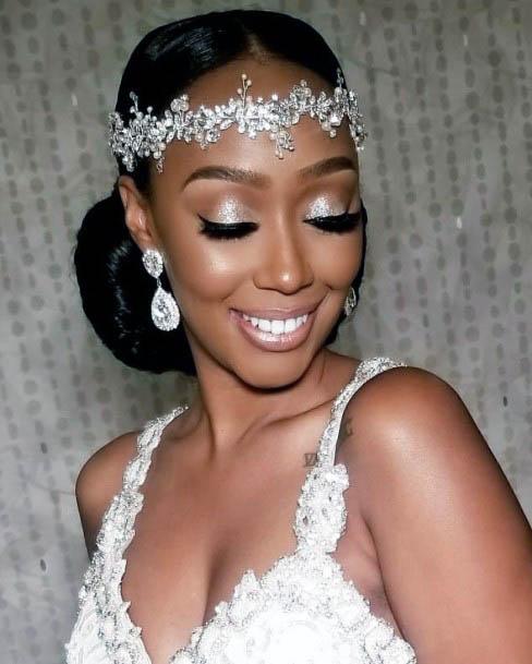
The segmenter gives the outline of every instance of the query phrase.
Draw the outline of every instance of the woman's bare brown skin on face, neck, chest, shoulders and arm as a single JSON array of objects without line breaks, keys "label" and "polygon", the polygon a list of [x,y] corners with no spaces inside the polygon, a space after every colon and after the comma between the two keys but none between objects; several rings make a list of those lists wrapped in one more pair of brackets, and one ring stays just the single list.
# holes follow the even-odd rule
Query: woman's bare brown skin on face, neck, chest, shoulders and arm
[{"label": "woman's bare brown skin on face, neck, chest, shoulders and arm", "polygon": [[[196,81],[191,101],[234,96],[242,71],[254,96],[283,95],[302,77],[313,89],[331,90],[294,64],[239,60]],[[266,135],[252,141],[233,128],[206,150],[174,142],[164,172],[153,169],[149,197],[120,178],[132,238],[167,256],[198,377],[189,411],[165,430],[154,452],[124,553],[122,595],[152,664],[166,664],[189,642],[245,569],[262,575],[293,552],[302,483],[332,399],[359,364],[323,342],[360,268],[362,228],[337,234],[305,224],[316,201],[336,215],[360,208],[356,152],[346,122],[335,138],[309,118],[291,131],[295,150],[283,160]],[[343,161],[318,177],[299,177],[335,157],[354,168]],[[256,171],[266,181],[196,179],[183,186],[213,165]],[[227,201],[258,230],[235,241],[201,234],[197,215],[221,222]],[[321,304],[311,335],[287,352],[252,346],[228,317],[230,307],[314,300]],[[80,473],[89,553],[136,434],[105,445]],[[457,393],[421,369],[384,372],[346,408],[336,461],[346,464],[350,487],[348,528],[332,555],[372,612],[412,643],[419,664],[525,664],[532,534]]]}]

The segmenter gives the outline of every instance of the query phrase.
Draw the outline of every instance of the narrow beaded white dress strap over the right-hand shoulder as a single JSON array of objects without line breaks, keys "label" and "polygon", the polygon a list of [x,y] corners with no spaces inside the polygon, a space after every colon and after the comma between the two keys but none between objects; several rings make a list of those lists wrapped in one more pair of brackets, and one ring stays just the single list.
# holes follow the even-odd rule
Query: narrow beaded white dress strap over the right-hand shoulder
[{"label": "narrow beaded white dress strap over the right-hand shoulder", "polygon": [[317,459],[328,467],[335,464],[336,447],[342,423],[343,412],[353,395],[371,378],[396,366],[408,366],[402,360],[387,357],[365,358],[356,367],[356,372],[336,398],[330,409],[330,419],[319,439]]}]

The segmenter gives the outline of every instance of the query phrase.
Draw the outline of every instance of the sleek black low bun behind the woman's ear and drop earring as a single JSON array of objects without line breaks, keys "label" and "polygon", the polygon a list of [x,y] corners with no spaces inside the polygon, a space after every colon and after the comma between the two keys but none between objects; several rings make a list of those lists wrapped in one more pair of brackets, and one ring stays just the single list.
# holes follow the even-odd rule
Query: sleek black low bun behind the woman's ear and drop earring
[{"label": "sleek black low bun behind the woman's ear and drop earring", "polygon": [[[85,215],[74,263],[83,310],[116,358],[157,374],[195,374],[183,326],[164,331],[152,321],[156,281],[146,271],[142,252],[125,226],[117,185]],[[165,271],[160,282],[171,291]]]}]

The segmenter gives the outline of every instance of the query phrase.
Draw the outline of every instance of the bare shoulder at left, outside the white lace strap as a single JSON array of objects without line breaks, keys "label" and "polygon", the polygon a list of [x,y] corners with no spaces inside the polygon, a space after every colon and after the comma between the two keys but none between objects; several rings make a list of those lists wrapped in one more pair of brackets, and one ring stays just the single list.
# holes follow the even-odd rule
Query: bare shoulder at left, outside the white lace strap
[{"label": "bare shoulder at left, outside the white lace strap", "polygon": [[126,432],[102,445],[77,474],[75,497],[89,555],[94,551],[104,512],[121,490],[125,466],[136,452],[138,433]]}]

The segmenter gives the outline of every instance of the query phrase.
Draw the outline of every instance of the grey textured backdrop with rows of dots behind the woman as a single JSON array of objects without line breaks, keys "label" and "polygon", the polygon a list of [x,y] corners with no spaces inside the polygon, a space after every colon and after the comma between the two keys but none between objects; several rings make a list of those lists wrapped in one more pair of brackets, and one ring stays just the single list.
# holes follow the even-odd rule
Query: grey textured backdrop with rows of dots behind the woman
[{"label": "grey textured backdrop with rows of dots behind the woman", "polygon": [[[89,329],[71,267],[116,177],[106,114],[138,38],[258,3],[0,0],[0,643],[62,661],[86,552],[83,461],[186,399]],[[532,4],[262,2],[321,29],[361,95],[368,256],[336,348],[428,369],[460,394],[532,515]],[[101,229],[105,232],[105,228]]]}]

